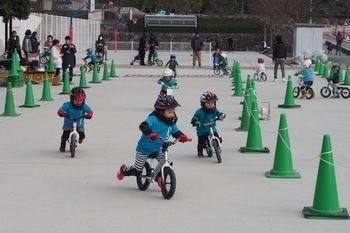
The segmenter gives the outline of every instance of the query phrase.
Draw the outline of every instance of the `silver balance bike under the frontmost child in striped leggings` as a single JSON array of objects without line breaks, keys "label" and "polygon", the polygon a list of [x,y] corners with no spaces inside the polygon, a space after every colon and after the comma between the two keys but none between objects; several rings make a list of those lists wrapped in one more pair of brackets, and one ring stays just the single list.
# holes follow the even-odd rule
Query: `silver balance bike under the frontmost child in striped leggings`
[{"label": "silver balance bike under the frontmost child in striped leggings", "polygon": [[[161,157],[157,166],[155,166],[157,153],[151,155],[147,159],[147,162],[142,169],[142,173],[136,177],[136,183],[141,191],[145,191],[148,189],[151,182],[155,182],[156,177],[160,173],[162,178],[160,185],[162,195],[165,199],[170,199],[175,194],[176,176],[172,167],[173,162],[169,161],[168,158],[168,148],[175,145],[178,142],[178,139],[175,139],[174,141],[168,141],[161,137],[159,139],[163,141],[162,152],[164,153],[164,156]],[[189,139],[188,141],[192,141],[192,139]]]}]

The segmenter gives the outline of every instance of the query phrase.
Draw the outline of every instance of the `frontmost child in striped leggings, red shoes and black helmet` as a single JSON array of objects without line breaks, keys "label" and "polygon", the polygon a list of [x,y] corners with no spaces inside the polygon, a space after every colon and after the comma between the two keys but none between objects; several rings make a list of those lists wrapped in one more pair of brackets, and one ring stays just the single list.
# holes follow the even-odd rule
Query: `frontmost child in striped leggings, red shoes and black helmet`
[{"label": "frontmost child in striped leggings, red shoes and black helmet", "polygon": [[[117,179],[122,180],[124,176],[139,176],[145,166],[149,156],[157,154],[156,159],[159,161],[164,153],[162,152],[162,137],[168,139],[170,136],[179,139],[179,142],[191,141],[177,126],[177,116],[175,109],[180,104],[174,96],[159,95],[154,105],[155,110],[139,125],[141,137],[136,147],[135,162],[131,166],[121,165]],[[161,176],[155,179],[158,185],[161,185]]]}]

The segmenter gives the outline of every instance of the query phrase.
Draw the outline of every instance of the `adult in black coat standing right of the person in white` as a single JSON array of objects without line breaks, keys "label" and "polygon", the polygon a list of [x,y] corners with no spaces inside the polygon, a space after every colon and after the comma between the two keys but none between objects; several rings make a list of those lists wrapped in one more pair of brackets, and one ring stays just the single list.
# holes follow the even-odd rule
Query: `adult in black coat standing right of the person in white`
[{"label": "adult in black coat standing right of the person in white", "polygon": [[69,70],[69,82],[73,80],[73,68],[76,64],[75,53],[77,49],[75,45],[72,43],[70,36],[66,36],[65,43],[62,45],[61,53],[62,53],[62,68],[63,72]]}]

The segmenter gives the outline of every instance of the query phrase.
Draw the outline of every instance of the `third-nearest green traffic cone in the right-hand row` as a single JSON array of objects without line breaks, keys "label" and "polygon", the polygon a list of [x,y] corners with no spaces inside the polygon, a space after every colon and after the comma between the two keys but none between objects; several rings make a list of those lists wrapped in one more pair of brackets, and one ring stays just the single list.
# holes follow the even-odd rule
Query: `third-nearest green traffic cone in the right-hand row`
[{"label": "third-nearest green traffic cone in the right-hand row", "polygon": [[252,102],[252,110],[249,119],[248,137],[246,147],[239,149],[241,153],[269,153],[270,150],[262,145],[260,123],[258,116],[258,105]]}]

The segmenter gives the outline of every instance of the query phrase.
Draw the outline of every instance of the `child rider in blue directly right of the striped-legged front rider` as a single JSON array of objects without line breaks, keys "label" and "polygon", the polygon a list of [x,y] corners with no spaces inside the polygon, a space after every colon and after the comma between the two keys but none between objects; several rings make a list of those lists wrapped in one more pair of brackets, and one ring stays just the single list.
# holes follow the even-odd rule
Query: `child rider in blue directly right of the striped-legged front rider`
[{"label": "child rider in blue directly right of the striped-legged front rider", "polygon": [[[211,91],[205,91],[200,97],[201,107],[194,113],[191,120],[192,126],[196,127],[198,136],[198,157],[203,157],[203,149],[205,148],[206,140],[209,134],[209,127],[205,124],[215,119],[216,117],[218,117],[221,121],[226,117],[224,113],[220,112],[216,108],[216,101],[218,101],[218,97],[215,93]],[[212,124],[212,127],[214,135],[220,139],[220,142],[222,142],[222,138],[219,137],[215,122]]]}]

